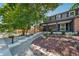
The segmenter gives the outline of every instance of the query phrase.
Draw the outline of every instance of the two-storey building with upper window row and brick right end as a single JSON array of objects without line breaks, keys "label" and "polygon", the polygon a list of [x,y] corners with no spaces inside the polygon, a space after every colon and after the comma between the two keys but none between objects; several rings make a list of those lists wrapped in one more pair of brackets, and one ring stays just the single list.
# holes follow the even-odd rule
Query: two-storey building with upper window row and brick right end
[{"label": "two-storey building with upper window row and brick right end", "polygon": [[[73,4],[71,7],[72,6]],[[79,32],[79,8],[71,10],[71,7],[69,7],[69,10],[66,10],[68,8],[65,8],[64,12],[56,12],[56,14],[49,16],[48,22],[41,24],[42,30]]]}]

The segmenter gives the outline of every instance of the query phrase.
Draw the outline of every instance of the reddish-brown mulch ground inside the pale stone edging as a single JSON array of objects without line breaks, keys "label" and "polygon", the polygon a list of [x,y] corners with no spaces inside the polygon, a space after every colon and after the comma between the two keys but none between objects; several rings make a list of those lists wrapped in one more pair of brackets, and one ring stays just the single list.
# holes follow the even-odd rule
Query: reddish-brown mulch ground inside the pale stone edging
[{"label": "reddish-brown mulch ground inside the pale stone edging", "polygon": [[76,48],[78,43],[78,39],[62,36],[50,36],[47,39],[37,39],[32,42],[34,45],[61,56],[79,56],[79,50]]}]

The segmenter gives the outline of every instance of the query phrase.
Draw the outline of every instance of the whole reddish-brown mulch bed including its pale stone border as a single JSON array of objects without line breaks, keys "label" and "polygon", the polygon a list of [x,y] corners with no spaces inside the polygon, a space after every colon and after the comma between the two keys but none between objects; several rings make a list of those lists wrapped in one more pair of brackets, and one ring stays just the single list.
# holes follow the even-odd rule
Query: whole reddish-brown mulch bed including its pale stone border
[{"label": "whole reddish-brown mulch bed including its pale stone border", "polygon": [[49,36],[32,42],[35,54],[45,56],[79,56],[79,38]]}]

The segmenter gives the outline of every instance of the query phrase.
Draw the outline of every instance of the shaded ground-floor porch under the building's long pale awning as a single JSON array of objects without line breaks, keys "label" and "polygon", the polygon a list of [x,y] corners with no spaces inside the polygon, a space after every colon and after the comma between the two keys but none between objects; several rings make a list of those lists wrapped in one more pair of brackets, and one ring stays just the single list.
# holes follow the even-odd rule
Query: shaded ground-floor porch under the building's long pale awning
[{"label": "shaded ground-floor porch under the building's long pale awning", "polygon": [[64,31],[73,32],[74,23],[73,20],[55,21],[48,24],[43,24],[43,31]]}]

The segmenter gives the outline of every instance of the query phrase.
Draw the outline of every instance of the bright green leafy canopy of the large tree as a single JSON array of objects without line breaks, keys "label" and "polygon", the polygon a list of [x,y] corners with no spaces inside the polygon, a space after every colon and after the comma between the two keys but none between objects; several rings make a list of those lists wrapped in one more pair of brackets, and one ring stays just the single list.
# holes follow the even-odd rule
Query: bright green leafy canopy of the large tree
[{"label": "bright green leafy canopy of the large tree", "polygon": [[44,13],[54,9],[58,4],[6,4],[0,9],[3,23],[7,23],[10,31],[30,29],[32,25],[41,23],[46,17]]}]

